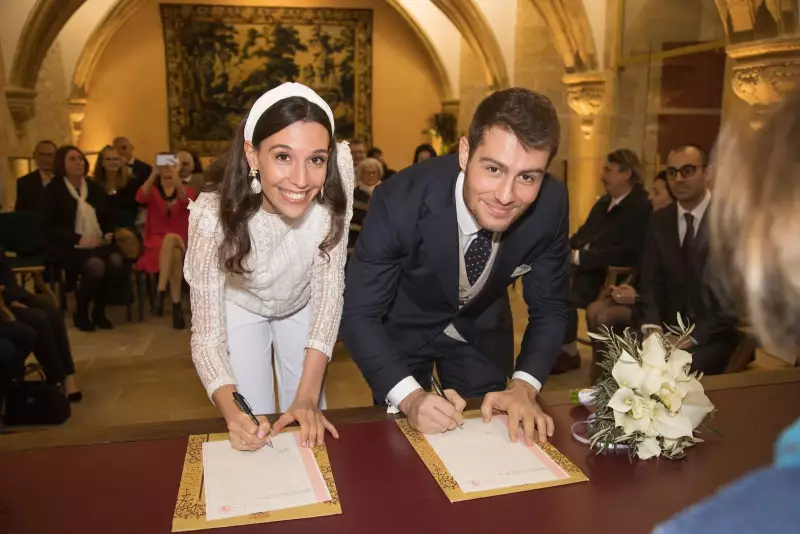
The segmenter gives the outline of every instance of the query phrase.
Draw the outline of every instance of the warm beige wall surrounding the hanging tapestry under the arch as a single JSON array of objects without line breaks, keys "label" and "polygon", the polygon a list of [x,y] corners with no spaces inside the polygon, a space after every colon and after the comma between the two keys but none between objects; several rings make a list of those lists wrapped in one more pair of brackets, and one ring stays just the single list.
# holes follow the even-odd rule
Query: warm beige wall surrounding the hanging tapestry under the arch
[{"label": "warm beige wall surrounding the hanging tapestry under the arch", "polygon": [[[174,0],[225,3],[224,0]],[[297,5],[373,9],[373,139],[396,169],[410,163],[428,118],[441,109],[434,67],[407,23],[381,0],[236,0],[235,5]],[[88,95],[81,146],[97,150],[116,135],[130,137],[152,160],[169,146],[166,66],[161,16],[147,2],[120,29],[100,59]]]}]

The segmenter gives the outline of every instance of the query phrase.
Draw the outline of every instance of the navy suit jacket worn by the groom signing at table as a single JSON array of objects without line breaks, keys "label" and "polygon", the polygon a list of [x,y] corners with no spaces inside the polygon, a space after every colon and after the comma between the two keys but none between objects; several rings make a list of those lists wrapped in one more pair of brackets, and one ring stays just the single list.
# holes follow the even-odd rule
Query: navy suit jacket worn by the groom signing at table
[{"label": "navy suit jacket worn by the groom signing at table", "polygon": [[411,375],[405,357],[451,322],[479,352],[513,368],[507,288],[522,265],[528,327],[515,368],[544,384],[567,323],[569,203],[546,176],[536,202],[503,233],[483,290],[459,309],[457,156],[431,158],[375,189],[349,261],[340,335],[377,399]]}]

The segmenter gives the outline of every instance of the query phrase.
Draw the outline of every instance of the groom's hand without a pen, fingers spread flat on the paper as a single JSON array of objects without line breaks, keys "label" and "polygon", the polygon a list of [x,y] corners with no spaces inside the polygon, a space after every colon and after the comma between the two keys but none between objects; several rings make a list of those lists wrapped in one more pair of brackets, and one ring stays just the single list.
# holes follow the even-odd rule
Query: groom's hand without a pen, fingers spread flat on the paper
[{"label": "groom's hand without a pen, fingers spread flat on the paper", "polygon": [[536,402],[537,392],[533,386],[522,380],[512,380],[505,391],[488,393],[481,405],[483,422],[492,420],[492,411],[505,412],[508,415],[508,436],[517,441],[519,425],[525,433],[525,443],[533,445],[534,428],[539,434],[539,441],[547,442],[553,436],[553,418],[542,411]]}]

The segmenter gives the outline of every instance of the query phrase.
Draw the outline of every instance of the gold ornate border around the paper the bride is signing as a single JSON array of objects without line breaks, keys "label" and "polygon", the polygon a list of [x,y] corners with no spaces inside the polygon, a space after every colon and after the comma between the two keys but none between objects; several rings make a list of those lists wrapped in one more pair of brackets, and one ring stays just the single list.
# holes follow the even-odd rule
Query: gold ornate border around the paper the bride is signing
[{"label": "gold ornate border around the paper the bride is signing", "polygon": [[[297,428],[287,428],[284,432],[296,432],[297,430]],[[189,445],[186,447],[186,458],[183,462],[183,473],[181,474],[181,485],[178,488],[178,501],[175,504],[175,513],[172,516],[172,532],[271,523],[342,513],[339,492],[336,491],[333,470],[328,458],[328,450],[323,445],[314,447],[313,452],[317,465],[319,465],[319,470],[322,473],[322,478],[325,480],[325,485],[328,486],[328,491],[331,494],[330,501],[215,521],[206,520],[206,504],[203,495],[203,443],[225,439],[228,439],[227,434],[189,436]]]}]

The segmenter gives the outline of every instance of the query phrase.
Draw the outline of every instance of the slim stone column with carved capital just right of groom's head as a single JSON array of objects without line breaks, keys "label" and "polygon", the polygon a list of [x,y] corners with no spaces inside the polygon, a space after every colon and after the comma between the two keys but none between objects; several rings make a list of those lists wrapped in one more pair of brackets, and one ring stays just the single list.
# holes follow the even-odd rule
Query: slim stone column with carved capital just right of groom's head
[{"label": "slim stone column with carved capital just right of groom's head", "polygon": [[583,224],[601,194],[599,173],[607,152],[607,120],[601,113],[608,99],[606,75],[587,72],[564,76],[567,103],[578,115],[579,128],[571,128],[567,187],[570,201],[570,232]]}]

